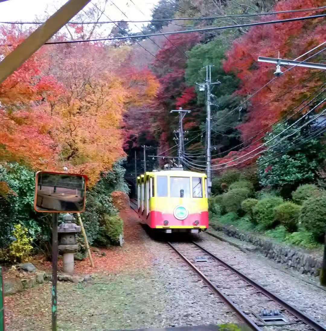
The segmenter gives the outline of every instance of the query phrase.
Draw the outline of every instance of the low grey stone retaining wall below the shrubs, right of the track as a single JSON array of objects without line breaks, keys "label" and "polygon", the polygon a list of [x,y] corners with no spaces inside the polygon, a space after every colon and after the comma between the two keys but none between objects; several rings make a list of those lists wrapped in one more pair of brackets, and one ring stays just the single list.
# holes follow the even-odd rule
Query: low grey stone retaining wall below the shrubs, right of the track
[{"label": "low grey stone retaining wall below the shrubs, right of the track", "polygon": [[288,268],[298,270],[302,274],[318,276],[321,268],[321,260],[299,252],[290,247],[284,247],[270,240],[258,238],[251,233],[242,233],[227,226],[214,225],[216,230],[222,231],[229,237],[251,243],[268,259],[286,265]]}]

